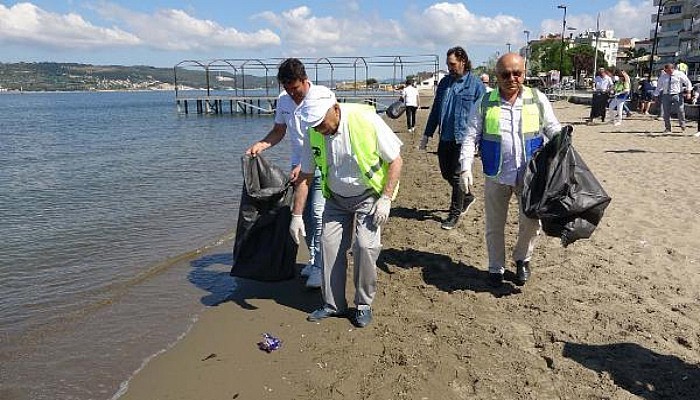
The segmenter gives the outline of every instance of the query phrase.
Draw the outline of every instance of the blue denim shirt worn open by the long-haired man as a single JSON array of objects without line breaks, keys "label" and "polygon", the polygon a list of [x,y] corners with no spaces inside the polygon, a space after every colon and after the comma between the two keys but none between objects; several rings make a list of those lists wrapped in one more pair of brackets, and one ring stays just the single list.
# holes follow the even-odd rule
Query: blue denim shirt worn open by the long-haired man
[{"label": "blue denim shirt worn open by the long-haired man", "polygon": [[481,79],[471,71],[458,79],[451,75],[440,79],[423,135],[433,136],[439,125],[441,141],[462,143],[469,113],[484,92]]}]

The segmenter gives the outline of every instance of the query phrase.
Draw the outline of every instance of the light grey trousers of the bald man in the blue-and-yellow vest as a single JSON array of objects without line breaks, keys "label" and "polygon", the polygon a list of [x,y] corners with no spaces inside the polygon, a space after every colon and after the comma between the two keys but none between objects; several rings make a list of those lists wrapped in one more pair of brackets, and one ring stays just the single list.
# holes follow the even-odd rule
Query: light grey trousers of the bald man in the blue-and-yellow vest
[{"label": "light grey trousers of the bald man in the blue-and-yellow vest", "polygon": [[505,271],[505,228],[508,218],[510,198],[515,194],[518,199],[518,240],[513,248],[514,261],[530,261],[535,248],[535,239],[540,230],[540,220],[528,218],[523,213],[520,193],[523,186],[502,185],[486,178],[484,182],[484,203],[486,207],[486,247],[489,252],[489,272]]}]

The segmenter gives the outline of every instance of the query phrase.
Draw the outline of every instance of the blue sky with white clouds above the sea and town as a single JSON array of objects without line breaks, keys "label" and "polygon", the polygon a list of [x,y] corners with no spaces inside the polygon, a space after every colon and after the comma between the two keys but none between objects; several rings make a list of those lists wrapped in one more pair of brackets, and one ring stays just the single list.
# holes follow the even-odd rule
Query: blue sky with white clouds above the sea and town
[{"label": "blue sky with white clouds above the sea and town", "polygon": [[567,26],[644,39],[651,0],[0,1],[0,62],[171,67],[185,59],[438,54],[475,65]]}]

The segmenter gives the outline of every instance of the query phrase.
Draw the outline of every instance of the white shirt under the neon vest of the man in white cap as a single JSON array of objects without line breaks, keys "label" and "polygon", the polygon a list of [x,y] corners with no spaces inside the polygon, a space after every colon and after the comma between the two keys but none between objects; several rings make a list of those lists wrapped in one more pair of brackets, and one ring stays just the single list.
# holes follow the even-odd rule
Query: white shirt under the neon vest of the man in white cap
[{"label": "white shirt under the neon vest of the man in white cap", "polygon": [[[377,114],[367,114],[377,132],[377,152],[382,160],[392,162],[400,155],[403,143],[394,131]],[[308,137],[308,136],[307,136]],[[328,186],[331,191],[342,197],[359,196],[370,189],[362,178],[360,166],[352,155],[350,143],[350,131],[347,118],[340,113],[340,125],[338,132],[333,135],[323,136],[326,141],[326,157],[328,160]],[[304,141],[302,149],[301,170],[304,173],[313,173],[316,169],[311,144]]]}]

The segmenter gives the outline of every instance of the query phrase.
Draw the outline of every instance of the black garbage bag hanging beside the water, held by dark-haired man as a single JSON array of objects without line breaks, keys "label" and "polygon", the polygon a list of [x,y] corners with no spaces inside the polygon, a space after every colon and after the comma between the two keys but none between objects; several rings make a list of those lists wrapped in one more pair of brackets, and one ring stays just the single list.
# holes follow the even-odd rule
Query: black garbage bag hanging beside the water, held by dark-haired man
[{"label": "black garbage bag hanging beside the water, held by dark-haired man", "polygon": [[294,191],[288,174],[262,156],[241,158],[243,193],[231,276],[259,281],[294,277],[297,244],[289,233]]}]

